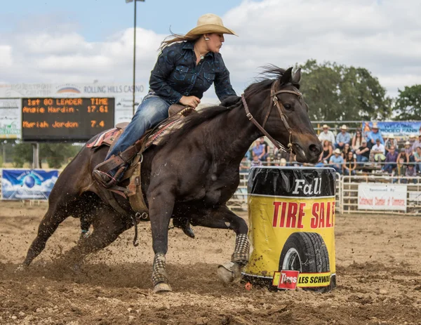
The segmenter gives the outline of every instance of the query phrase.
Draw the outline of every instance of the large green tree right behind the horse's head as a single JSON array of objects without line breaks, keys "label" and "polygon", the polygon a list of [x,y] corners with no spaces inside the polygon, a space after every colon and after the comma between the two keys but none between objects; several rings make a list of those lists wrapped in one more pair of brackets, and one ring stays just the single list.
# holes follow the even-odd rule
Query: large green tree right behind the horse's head
[{"label": "large green tree right behind the horse's head", "polygon": [[308,60],[302,68],[301,91],[309,115],[318,121],[386,119],[392,99],[367,69]]}]

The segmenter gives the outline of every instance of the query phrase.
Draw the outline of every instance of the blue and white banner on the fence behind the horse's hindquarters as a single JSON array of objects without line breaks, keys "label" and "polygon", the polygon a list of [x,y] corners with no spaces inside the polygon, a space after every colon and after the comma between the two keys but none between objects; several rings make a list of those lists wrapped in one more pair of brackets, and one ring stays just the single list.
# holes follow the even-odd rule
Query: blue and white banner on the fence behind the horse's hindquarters
[{"label": "blue and white banner on the fence behind the horse's hindquarters", "polygon": [[1,199],[46,200],[57,178],[57,170],[2,169]]}]

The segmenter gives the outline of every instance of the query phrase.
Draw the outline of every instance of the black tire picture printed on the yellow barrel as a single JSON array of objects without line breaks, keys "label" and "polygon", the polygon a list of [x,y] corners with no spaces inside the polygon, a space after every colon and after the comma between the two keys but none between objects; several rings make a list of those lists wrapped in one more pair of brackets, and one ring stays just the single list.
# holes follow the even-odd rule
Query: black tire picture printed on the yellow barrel
[{"label": "black tire picture printed on the yellow barrel", "polygon": [[[295,270],[302,273],[330,272],[328,248],[320,234],[294,232],[288,237],[279,258],[279,271]],[[325,288],[307,288],[320,291]]]}]

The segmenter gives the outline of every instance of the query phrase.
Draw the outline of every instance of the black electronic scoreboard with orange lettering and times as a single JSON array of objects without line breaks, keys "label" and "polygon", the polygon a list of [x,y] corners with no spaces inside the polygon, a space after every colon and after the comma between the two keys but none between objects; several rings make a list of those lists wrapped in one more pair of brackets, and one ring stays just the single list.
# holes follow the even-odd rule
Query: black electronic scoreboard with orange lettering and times
[{"label": "black electronic scoreboard with orange lettering and times", "polygon": [[114,128],[114,98],[22,98],[22,140],[87,141]]}]

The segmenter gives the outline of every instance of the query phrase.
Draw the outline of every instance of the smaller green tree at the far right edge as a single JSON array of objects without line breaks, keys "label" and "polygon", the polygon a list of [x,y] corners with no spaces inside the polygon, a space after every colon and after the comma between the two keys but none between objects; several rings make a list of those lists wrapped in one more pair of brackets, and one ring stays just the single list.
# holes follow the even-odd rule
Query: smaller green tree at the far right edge
[{"label": "smaller green tree at the far right edge", "polygon": [[396,119],[400,121],[419,121],[421,119],[421,85],[405,86],[396,98]]}]

